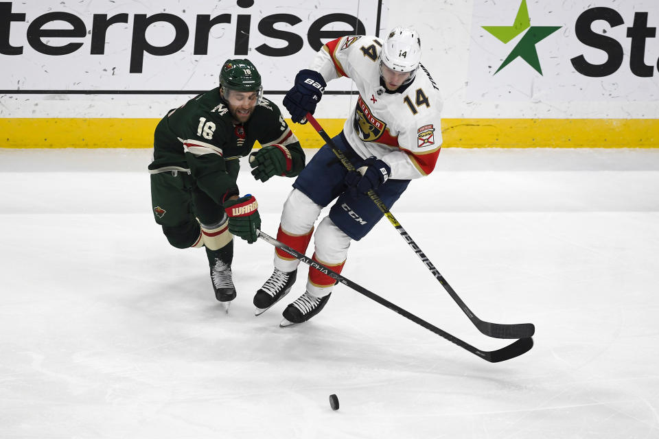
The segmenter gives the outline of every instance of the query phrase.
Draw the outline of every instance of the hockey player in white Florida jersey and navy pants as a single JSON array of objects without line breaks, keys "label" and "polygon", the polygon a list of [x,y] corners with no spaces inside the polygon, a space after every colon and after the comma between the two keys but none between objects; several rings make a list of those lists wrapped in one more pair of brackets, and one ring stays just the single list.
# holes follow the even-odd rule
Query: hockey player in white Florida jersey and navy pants
[{"label": "hockey player in white Florida jersey and navy pants", "polygon": [[[346,76],[359,91],[358,101],[332,139],[357,171],[347,171],[324,145],[301,171],[284,204],[277,240],[305,253],[314,235],[314,261],[340,273],[352,240],[358,241],[382,218],[365,195],[373,189],[391,206],[410,180],[435,168],[441,147],[441,97],[420,63],[421,41],[413,29],[395,27],[383,41],[375,36],[344,36],[316,54],[286,93],[292,121],[305,123],[314,113],[327,82]],[[329,215],[314,224],[321,209],[336,200]],[[290,291],[299,261],[275,250],[275,271],[254,296],[256,315]],[[284,310],[281,326],[305,322],[329,300],[336,281],[310,268],[306,290]]]}]

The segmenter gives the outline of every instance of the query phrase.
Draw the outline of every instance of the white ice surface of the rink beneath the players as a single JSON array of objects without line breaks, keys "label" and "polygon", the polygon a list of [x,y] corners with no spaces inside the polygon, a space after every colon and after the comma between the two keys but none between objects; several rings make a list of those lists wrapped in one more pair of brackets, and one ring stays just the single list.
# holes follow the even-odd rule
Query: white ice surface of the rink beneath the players
[{"label": "white ice surface of the rink beneath the players", "polygon": [[[154,224],[149,161],[0,150],[0,437],[659,438],[659,151],[447,149],[394,206],[480,318],[535,323],[535,347],[500,364],[343,285],[281,329],[303,266],[255,317],[264,241],[236,245],[227,316],[205,253]],[[240,173],[270,235],[290,183]],[[343,274],[479,348],[509,342],[476,331],[386,219]]]}]

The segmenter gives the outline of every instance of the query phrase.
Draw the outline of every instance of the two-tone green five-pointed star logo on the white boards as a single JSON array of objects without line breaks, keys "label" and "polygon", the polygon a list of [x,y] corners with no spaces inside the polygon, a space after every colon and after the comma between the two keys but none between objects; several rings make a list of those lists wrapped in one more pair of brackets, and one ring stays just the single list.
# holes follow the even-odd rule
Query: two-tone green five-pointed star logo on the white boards
[{"label": "two-tone green five-pointed star logo on the white boards", "polygon": [[533,67],[537,73],[542,75],[542,67],[540,67],[540,60],[537,58],[535,45],[560,28],[561,26],[531,26],[527,0],[522,0],[515,21],[511,26],[483,26],[483,29],[496,36],[498,40],[505,44],[529,29],[494,74],[496,75],[499,73],[501,69],[513,62],[516,58],[522,58],[522,60],[526,61],[531,67]]}]

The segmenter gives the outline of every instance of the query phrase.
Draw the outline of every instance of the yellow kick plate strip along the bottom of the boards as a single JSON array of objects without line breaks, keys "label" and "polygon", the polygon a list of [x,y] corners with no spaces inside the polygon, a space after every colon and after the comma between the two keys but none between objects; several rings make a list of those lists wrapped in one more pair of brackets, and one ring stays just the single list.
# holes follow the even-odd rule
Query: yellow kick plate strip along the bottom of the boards
[{"label": "yellow kick plate strip along the bottom of the boards", "polygon": [[[0,119],[0,147],[148,148],[159,119],[7,118]],[[291,123],[303,147],[323,141],[307,125]],[[345,119],[319,119],[338,134]],[[659,147],[659,119],[443,119],[443,147]]]}]

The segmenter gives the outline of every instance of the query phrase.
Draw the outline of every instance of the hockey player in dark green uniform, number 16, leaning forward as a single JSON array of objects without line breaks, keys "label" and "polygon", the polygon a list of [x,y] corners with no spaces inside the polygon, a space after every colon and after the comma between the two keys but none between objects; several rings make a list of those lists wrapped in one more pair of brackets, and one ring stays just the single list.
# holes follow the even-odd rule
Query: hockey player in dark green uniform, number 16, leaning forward
[{"label": "hockey player in dark green uniform, number 16, leaning forward", "polygon": [[255,179],[294,177],[305,164],[299,141],[279,108],[263,97],[261,75],[249,60],[227,60],[220,86],[170,110],[154,134],[151,200],[154,219],[176,248],[205,247],[217,300],[236,296],[233,235],[248,243],[261,225],[253,195],[240,196],[241,157],[251,155]]}]

